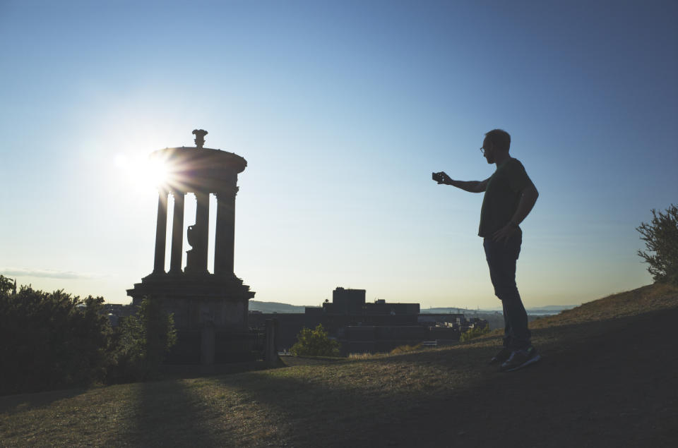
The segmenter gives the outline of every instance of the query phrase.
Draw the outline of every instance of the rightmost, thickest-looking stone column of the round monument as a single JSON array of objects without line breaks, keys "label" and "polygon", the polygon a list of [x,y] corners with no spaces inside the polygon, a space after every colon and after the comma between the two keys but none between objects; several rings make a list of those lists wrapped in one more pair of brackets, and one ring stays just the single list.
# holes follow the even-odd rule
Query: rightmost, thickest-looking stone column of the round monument
[{"label": "rightmost, thickest-looking stone column of the round monument", "polygon": [[217,193],[217,224],[214,238],[214,273],[233,274],[235,243],[235,195],[238,191]]}]

